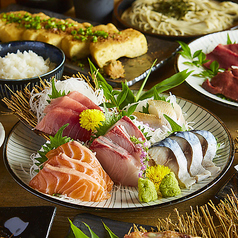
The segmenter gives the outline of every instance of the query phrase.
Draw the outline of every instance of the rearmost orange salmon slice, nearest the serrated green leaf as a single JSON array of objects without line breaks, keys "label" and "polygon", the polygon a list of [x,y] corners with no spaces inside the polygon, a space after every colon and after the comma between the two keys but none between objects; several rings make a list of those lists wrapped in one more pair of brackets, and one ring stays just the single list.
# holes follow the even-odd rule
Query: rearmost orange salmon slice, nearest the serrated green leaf
[{"label": "rearmost orange salmon slice, nearest the serrated green leaf", "polygon": [[64,153],[70,158],[88,163],[105,180],[108,191],[112,190],[113,181],[104,171],[95,154],[87,147],[83,146],[77,141],[70,141],[57,147],[54,150],[49,151],[46,154],[46,157],[48,159],[51,159],[52,157],[58,155],[59,153]]}]

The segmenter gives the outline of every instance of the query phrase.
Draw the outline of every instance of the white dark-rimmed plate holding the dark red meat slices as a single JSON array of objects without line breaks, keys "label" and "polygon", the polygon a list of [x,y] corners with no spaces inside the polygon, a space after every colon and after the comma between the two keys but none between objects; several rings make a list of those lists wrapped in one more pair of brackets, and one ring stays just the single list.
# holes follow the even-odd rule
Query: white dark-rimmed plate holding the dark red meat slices
[{"label": "white dark-rimmed plate holding the dark red meat slices", "polygon": [[[232,42],[237,42],[238,39],[238,30],[233,31],[223,31],[219,33],[213,33],[206,36],[203,36],[197,40],[192,41],[188,46],[191,49],[193,54],[197,50],[202,50],[205,54],[211,52],[218,44],[227,44],[227,34],[229,34]],[[205,78],[195,77],[193,74],[198,74],[201,72],[201,69],[198,69],[193,66],[184,64],[184,62],[189,61],[183,56],[179,55],[177,59],[177,69],[178,71],[183,71],[188,69],[189,71],[194,70],[194,72],[186,79],[186,82],[197,92],[201,93],[203,96],[208,99],[214,100],[215,102],[225,104],[227,106],[238,109],[238,102],[231,102],[225,99],[222,99],[212,93],[209,93],[202,88],[202,83]]]}]

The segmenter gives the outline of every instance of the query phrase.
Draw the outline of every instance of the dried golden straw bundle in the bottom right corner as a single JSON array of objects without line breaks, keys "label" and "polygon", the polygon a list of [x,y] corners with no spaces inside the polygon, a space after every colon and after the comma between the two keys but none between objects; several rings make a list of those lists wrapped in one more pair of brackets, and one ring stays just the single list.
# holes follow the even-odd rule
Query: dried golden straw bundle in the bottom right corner
[{"label": "dried golden straw bundle in the bottom right corner", "polygon": [[185,216],[180,215],[177,209],[175,212],[176,223],[170,217],[158,219],[159,231],[176,230],[203,238],[238,237],[238,198],[233,191],[232,196],[227,195],[227,199],[221,200],[218,205],[209,201],[208,204],[196,207],[196,210],[191,208],[191,213]]}]

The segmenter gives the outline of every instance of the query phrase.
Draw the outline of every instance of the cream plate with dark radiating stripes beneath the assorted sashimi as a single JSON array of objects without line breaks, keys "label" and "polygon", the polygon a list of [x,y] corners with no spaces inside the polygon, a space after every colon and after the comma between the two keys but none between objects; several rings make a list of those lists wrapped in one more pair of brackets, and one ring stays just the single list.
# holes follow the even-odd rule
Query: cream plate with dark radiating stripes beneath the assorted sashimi
[{"label": "cream plate with dark radiating stripes beneath the assorted sashimi", "polygon": [[137,188],[134,187],[114,187],[112,197],[100,203],[62,199],[40,193],[28,185],[30,181],[29,169],[32,164],[30,155],[39,150],[41,145],[45,143],[45,140],[36,135],[31,129],[21,122],[17,123],[13,127],[5,142],[5,165],[16,182],[26,190],[43,199],[67,207],[86,210],[95,208],[110,210],[136,210],[141,208],[157,208],[185,201],[206,191],[221,179],[233,161],[234,145],[228,129],[219,118],[201,106],[190,101],[181,98],[177,98],[177,101],[185,113],[186,120],[188,122],[194,122],[192,124],[194,129],[208,130],[217,138],[218,143],[224,144],[222,149],[218,150],[218,156],[214,159],[215,164],[221,168],[220,172],[195,184],[191,189],[183,189],[181,195],[177,197],[163,198],[149,203],[140,203]]}]

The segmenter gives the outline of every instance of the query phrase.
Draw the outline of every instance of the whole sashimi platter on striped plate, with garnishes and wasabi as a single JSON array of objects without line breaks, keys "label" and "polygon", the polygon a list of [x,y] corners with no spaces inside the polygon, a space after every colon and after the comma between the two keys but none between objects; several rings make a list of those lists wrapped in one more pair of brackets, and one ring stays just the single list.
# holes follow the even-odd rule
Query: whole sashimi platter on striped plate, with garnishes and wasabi
[{"label": "whole sashimi platter on striped plate, with garnishes and wasabi", "polygon": [[79,75],[26,90],[28,114],[3,99],[20,119],[5,142],[8,171],[36,196],[80,209],[153,208],[201,194],[226,173],[234,148],[219,118],[163,94],[189,75],[115,90],[91,63],[93,83]]}]

